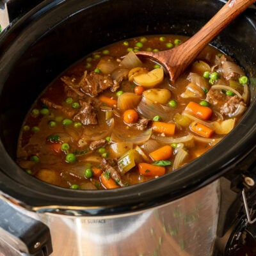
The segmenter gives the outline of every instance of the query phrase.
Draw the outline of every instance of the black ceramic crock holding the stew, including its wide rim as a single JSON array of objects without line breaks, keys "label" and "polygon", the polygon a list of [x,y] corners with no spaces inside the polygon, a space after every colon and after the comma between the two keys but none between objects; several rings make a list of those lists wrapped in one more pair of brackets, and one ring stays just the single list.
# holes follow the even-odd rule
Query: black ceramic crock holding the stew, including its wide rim
[{"label": "black ceramic crock holding the stew, including its wide rim", "polygon": [[[218,0],[45,0],[0,35],[0,188],[30,207],[97,206],[115,214],[164,204],[221,175],[253,175],[256,141],[256,12],[252,6],[212,45],[232,56],[250,77],[250,107],[216,147],[179,170],[143,184],[109,191],[74,191],[29,176],[15,163],[20,126],[52,79],[104,45],[134,36],[191,36],[223,6]],[[246,159],[246,161],[244,160]],[[239,184],[239,182],[237,182]],[[236,184],[236,186],[237,186]]]}]

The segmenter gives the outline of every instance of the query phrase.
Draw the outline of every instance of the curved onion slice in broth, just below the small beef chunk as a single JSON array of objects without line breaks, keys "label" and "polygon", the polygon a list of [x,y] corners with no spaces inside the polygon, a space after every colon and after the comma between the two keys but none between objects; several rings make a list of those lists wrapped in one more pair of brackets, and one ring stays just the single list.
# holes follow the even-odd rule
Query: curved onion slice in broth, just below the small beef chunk
[{"label": "curved onion slice in broth, just below the small beef chunk", "polygon": [[79,145],[82,144],[82,141],[101,140],[109,136],[114,129],[114,118],[107,120],[106,124],[108,124],[106,129],[100,131],[97,129],[92,129],[90,132],[86,131],[86,133],[82,136],[83,138],[79,140]]}]

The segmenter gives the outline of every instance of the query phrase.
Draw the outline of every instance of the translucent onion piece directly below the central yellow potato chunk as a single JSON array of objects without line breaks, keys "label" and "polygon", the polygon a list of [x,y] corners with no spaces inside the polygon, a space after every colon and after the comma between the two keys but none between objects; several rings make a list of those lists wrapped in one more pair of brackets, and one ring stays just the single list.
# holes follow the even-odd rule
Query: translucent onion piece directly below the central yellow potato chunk
[{"label": "translucent onion piece directly below the central yellow potato chunk", "polygon": [[145,97],[143,97],[140,104],[138,104],[137,111],[145,118],[152,119],[154,116],[160,116],[162,120],[169,120],[172,113],[170,108],[146,100]]}]

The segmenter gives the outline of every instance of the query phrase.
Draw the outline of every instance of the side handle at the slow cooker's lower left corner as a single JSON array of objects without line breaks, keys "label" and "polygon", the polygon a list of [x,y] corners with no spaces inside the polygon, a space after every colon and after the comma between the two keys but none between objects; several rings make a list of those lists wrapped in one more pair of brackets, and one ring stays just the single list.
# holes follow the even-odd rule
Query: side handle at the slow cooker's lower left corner
[{"label": "side handle at the slow cooker's lower left corner", "polygon": [[48,256],[52,253],[49,228],[1,198],[0,220],[0,249],[7,253],[3,255]]}]

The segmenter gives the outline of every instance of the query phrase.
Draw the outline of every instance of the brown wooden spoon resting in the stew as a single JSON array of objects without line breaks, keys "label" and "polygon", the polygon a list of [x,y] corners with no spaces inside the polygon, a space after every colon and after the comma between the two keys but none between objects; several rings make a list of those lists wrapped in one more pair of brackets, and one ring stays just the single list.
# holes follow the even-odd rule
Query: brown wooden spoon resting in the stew
[{"label": "brown wooden spoon resting in the stew", "polygon": [[186,67],[195,60],[200,51],[254,2],[255,0],[229,0],[203,28],[178,47],[159,52],[141,51],[136,52],[136,55],[148,56],[161,63],[174,83]]}]

